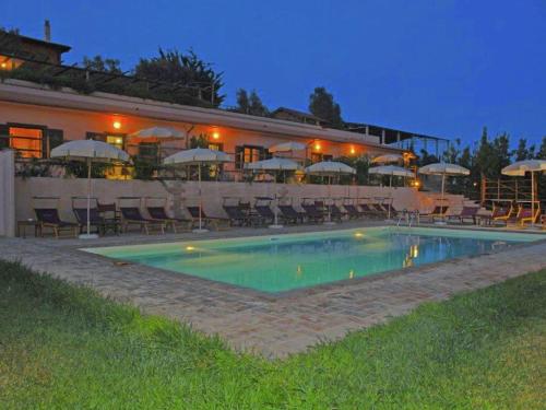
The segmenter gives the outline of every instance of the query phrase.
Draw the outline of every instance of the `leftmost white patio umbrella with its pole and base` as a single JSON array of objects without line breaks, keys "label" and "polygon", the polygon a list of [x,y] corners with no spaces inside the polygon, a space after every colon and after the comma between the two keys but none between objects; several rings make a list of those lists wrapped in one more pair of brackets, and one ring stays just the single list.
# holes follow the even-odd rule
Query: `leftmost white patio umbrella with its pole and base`
[{"label": "leftmost white patio umbrella with its pole and base", "polygon": [[119,148],[95,140],[79,140],[66,142],[51,150],[50,157],[68,161],[84,161],[87,163],[87,233],[80,238],[93,238],[91,234],[91,166],[94,162],[115,163],[129,162],[129,154]]}]

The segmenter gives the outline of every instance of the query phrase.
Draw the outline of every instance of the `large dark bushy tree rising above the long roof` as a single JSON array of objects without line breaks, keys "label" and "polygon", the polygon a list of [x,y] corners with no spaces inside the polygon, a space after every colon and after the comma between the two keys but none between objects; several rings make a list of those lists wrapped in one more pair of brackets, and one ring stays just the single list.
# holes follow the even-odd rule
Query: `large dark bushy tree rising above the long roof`
[{"label": "large dark bushy tree rising above the long roof", "polygon": [[193,97],[207,101],[213,106],[222,104],[225,98],[219,94],[224,86],[223,73],[214,71],[210,62],[201,60],[192,50],[181,54],[159,48],[158,52],[157,57],[141,58],[134,68],[136,77],[186,86]]}]

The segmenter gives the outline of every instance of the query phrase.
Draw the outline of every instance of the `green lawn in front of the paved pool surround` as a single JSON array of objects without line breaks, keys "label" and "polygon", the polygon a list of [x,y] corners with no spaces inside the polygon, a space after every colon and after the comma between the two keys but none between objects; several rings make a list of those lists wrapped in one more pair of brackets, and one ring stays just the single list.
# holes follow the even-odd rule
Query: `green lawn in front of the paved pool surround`
[{"label": "green lawn in front of the paved pool surround", "polygon": [[546,271],[285,361],[0,261],[2,408],[521,408],[546,400]]}]

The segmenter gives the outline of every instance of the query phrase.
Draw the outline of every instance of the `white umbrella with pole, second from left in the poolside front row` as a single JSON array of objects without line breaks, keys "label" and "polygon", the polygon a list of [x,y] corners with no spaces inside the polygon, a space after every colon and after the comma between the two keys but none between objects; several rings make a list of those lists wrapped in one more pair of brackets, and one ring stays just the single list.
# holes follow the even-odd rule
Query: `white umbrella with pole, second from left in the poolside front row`
[{"label": "white umbrella with pole, second from left in the poolside front row", "polygon": [[203,208],[203,196],[201,192],[201,166],[202,165],[215,165],[226,162],[232,162],[232,157],[225,152],[217,150],[209,150],[206,148],[195,148],[192,150],[185,150],[177,152],[176,154],[167,156],[164,161],[164,165],[198,165],[199,175],[199,229],[193,230],[193,232],[206,232],[203,229],[202,223],[202,208]]}]

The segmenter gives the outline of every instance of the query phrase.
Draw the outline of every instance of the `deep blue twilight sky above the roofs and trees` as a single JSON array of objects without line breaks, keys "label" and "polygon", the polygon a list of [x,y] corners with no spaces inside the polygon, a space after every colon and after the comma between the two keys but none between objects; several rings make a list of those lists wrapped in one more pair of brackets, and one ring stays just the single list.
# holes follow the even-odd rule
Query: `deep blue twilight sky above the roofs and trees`
[{"label": "deep blue twilight sky above the roofs and trees", "polygon": [[345,120],[472,142],[487,125],[546,136],[546,0],[2,0],[0,26],[123,69],[193,48],[235,90],[307,109],[324,85]]}]

